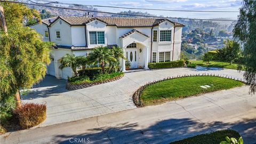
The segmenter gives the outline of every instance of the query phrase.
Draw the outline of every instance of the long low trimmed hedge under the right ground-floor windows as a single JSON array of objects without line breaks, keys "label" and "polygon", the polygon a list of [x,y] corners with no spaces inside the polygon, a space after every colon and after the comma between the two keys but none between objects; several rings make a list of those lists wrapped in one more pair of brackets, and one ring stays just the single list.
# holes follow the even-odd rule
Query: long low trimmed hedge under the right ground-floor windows
[{"label": "long low trimmed hedge under the right ground-floor windows", "polygon": [[157,62],[157,63],[148,63],[148,67],[150,69],[156,68],[175,68],[175,67],[183,67],[184,61],[177,60],[177,61],[170,61],[170,62]]}]

